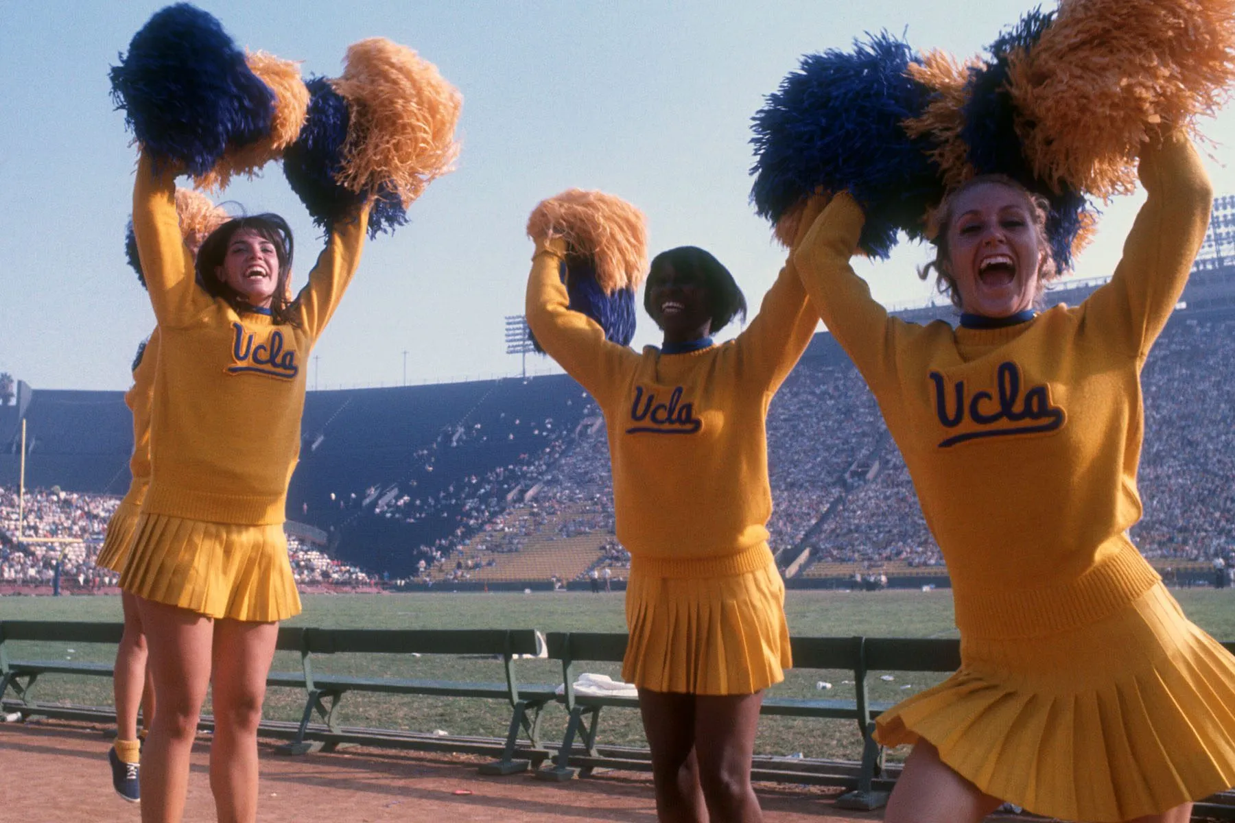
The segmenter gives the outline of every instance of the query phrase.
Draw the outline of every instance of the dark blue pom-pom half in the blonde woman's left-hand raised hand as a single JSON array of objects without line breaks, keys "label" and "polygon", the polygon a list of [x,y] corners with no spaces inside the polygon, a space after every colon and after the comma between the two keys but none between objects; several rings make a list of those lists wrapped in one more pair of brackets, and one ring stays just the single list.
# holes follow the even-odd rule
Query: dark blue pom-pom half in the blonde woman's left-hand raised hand
[{"label": "dark blue pom-pom half in the blonde woman's left-hand raised hand", "polygon": [[776,222],[816,188],[848,190],[866,210],[860,246],[885,258],[897,232],[921,237],[923,217],[944,194],[930,143],[900,123],[919,116],[929,89],[906,74],[918,57],[888,33],[852,52],[802,60],[755,115],[751,200]]}]

